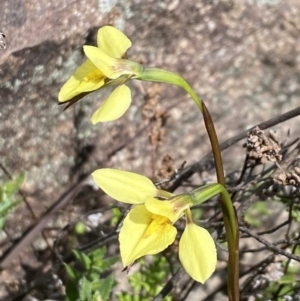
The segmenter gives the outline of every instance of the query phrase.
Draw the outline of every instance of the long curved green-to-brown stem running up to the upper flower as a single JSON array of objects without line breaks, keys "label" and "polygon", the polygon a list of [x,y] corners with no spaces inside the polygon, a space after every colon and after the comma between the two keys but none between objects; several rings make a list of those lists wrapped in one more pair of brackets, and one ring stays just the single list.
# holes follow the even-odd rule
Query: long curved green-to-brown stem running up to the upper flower
[{"label": "long curved green-to-brown stem running up to the upper flower", "polygon": [[238,245],[238,226],[237,226],[237,218],[236,214],[232,205],[232,202],[228,196],[228,193],[225,186],[225,178],[224,178],[224,171],[223,171],[223,163],[222,157],[219,147],[219,142],[217,138],[217,134],[214,128],[213,121],[207,110],[205,104],[201,99],[197,96],[195,91],[191,88],[191,86],[178,74],[173,72],[165,71],[163,69],[157,68],[146,68],[143,70],[138,79],[143,81],[155,81],[155,82],[162,82],[162,83],[169,83],[176,86],[183,88],[195,101],[196,105],[200,109],[201,113],[204,117],[205,127],[211,142],[213,156],[215,160],[216,166],[216,174],[217,179],[221,187],[224,190],[221,194],[221,208],[223,212],[224,218],[224,225],[226,229],[226,236],[228,242],[228,251],[229,251],[229,259],[228,259],[228,270],[229,270],[229,277],[228,277],[228,293],[229,293],[229,300],[231,301],[238,301],[239,300],[239,245]]}]

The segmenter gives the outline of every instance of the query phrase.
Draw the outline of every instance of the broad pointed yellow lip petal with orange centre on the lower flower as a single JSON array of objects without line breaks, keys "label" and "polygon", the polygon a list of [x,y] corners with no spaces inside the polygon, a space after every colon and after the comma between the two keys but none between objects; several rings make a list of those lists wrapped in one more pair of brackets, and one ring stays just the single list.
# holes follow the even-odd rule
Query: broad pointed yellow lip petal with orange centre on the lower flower
[{"label": "broad pointed yellow lip petal with orange centre on the lower flower", "polygon": [[176,232],[167,218],[153,215],[144,205],[137,205],[126,216],[119,235],[124,266],[142,256],[163,251],[174,242]]}]

